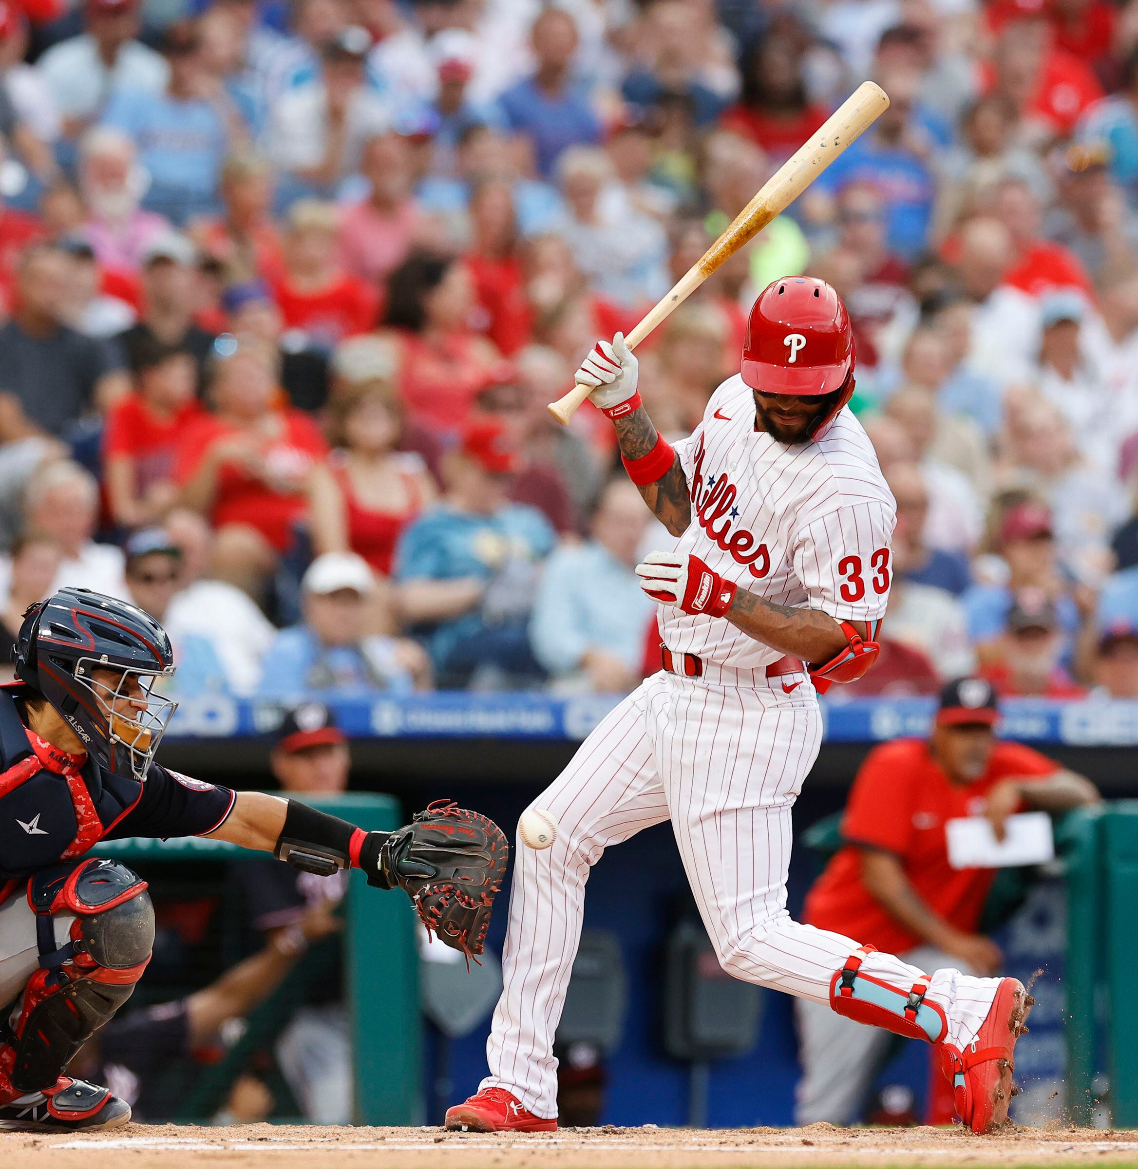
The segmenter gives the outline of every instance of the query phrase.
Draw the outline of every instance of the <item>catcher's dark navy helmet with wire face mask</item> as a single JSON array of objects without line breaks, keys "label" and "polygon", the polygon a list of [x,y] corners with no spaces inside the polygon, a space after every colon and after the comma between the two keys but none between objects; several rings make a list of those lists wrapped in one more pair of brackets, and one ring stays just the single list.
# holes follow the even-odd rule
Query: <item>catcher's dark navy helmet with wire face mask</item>
[{"label": "catcher's dark navy helmet with wire face mask", "polygon": [[[170,637],[136,604],[85,588],[62,588],[23,615],[16,636],[16,677],[39,691],[111,772],[142,781],[178,704],[152,693],[174,672]],[[110,684],[94,670],[111,670]],[[131,710],[137,679],[146,710]],[[116,710],[116,703],[123,707]]]}]

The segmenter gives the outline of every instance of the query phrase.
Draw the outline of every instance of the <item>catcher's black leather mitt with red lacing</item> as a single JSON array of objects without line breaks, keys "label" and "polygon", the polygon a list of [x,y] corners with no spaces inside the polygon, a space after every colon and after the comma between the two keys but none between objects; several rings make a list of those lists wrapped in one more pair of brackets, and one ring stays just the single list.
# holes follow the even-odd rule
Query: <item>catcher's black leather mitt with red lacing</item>
[{"label": "catcher's black leather mitt with red lacing", "polygon": [[381,879],[407,892],[422,924],[468,957],[481,954],[510,844],[485,816],[436,800],[379,850]]}]

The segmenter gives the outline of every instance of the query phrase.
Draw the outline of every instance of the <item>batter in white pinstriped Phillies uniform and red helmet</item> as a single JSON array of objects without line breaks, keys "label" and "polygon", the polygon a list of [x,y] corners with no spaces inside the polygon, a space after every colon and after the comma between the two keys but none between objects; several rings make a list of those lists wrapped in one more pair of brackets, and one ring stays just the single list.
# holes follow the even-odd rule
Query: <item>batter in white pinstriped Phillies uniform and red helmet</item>
[{"label": "batter in white pinstriped Phillies uniform and red helmet", "polygon": [[628,475],[676,537],[636,568],[661,603],[664,670],[534,801],[557,818],[557,839],[517,850],[490,1074],[447,1127],[557,1127],[553,1036],[589,867],[670,819],[725,970],[939,1044],[960,1118],[987,1132],[1007,1116],[1013,1050],[1033,1003],[1023,985],[929,974],[786,911],[791,809],[822,736],[818,693],[873,665],[892,582],[892,497],[846,409],[846,307],[821,281],[767,288],[739,374],[675,447],[656,433],[636,379],[619,333],[577,372],[613,420]]}]

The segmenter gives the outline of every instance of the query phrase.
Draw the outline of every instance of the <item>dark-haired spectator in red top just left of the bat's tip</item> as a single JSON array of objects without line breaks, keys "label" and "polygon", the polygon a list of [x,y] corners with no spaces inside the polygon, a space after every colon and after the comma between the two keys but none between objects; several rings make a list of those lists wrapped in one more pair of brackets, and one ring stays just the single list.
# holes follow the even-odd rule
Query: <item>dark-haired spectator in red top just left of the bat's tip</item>
[{"label": "dark-haired spectator in red top just left of the bat's tip", "polygon": [[743,65],[743,92],[719,120],[724,130],[761,146],[772,161],[789,158],[826,120],[826,111],[806,94],[802,54],[796,39],[768,33]]}]

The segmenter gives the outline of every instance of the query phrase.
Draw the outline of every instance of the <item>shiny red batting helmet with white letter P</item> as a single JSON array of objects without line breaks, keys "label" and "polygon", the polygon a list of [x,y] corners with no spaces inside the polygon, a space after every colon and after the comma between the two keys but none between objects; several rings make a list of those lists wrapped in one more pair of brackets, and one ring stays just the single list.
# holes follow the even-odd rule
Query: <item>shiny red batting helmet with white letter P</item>
[{"label": "shiny red batting helmet with white letter P", "polygon": [[739,373],[760,394],[836,392],[836,404],[814,427],[818,434],[854,394],[854,333],[842,298],[807,276],[768,284],[747,317]]}]

